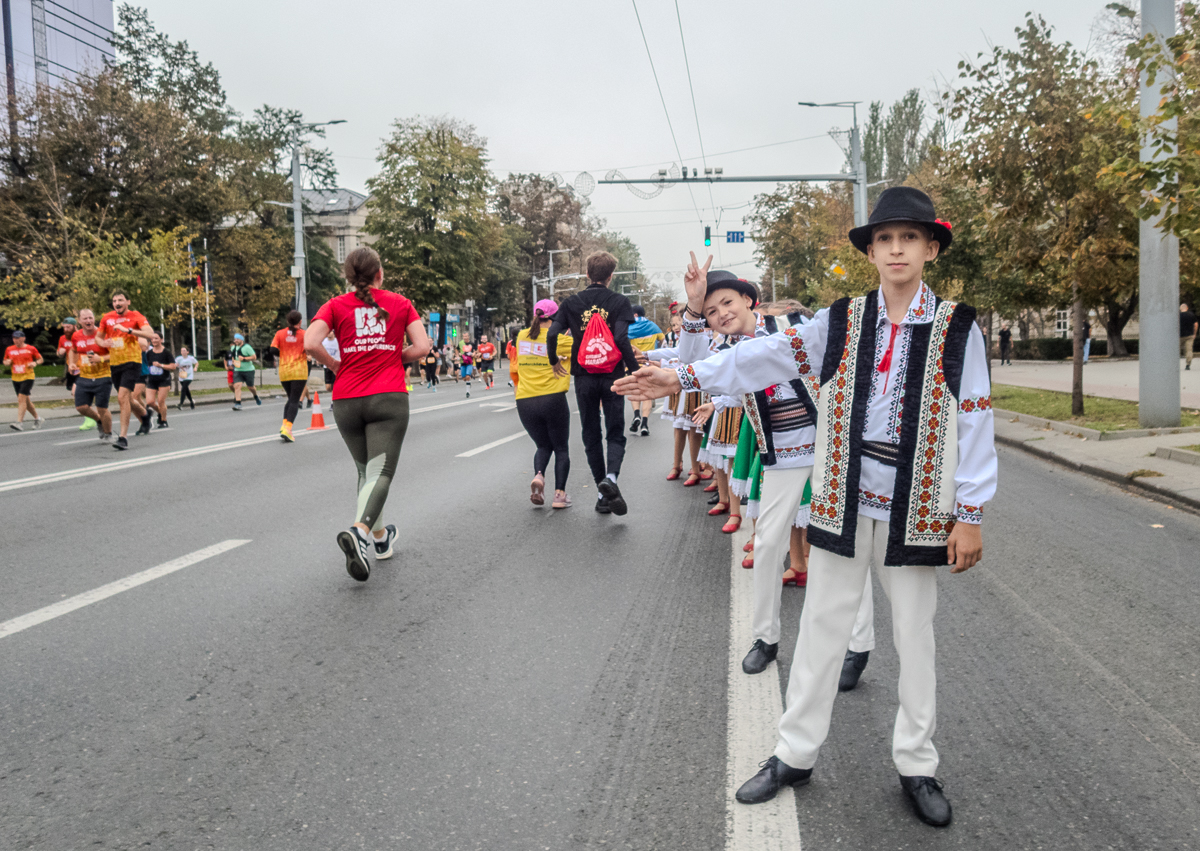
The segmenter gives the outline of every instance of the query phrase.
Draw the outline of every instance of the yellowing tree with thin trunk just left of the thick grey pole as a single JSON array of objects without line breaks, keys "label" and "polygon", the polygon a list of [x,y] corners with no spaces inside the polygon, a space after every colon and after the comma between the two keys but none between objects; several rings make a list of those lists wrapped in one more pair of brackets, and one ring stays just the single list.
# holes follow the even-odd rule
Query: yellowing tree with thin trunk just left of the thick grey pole
[{"label": "yellowing tree with thin trunk just left of the thick grey pole", "polygon": [[1097,172],[1136,150],[1127,121],[1094,122],[1102,103],[1128,98],[1094,60],[1057,43],[1033,14],[1015,49],[995,47],[959,64],[962,85],[944,112],[962,126],[952,146],[964,175],[983,193],[980,223],[1002,271],[1050,287],[1075,313],[1072,410],[1084,413],[1085,307],[1132,284],[1136,227],[1120,187]]}]

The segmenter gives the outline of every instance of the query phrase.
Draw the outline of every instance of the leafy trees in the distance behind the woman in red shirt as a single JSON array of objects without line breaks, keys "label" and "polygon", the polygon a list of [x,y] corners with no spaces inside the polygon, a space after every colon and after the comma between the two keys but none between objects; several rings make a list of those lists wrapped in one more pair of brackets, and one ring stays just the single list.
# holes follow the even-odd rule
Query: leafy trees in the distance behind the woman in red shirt
[{"label": "leafy trees in the distance behind the woman in red shirt", "polygon": [[[637,246],[605,230],[602,220],[569,186],[538,174],[487,168],[487,140],[452,118],[394,122],[367,181],[367,233],[395,281],[418,310],[439,311],[474,300],[485,324],[532,313],[530,282],[545,276],[550,251],[558,274],[582,271],[588,253],[611,251],[619,269],[636,271]],[[576,289],[560,282],[554,294]],[[641,290],[643,281],[623,280]],[[550,290],[542,287],[539,295]]]}]

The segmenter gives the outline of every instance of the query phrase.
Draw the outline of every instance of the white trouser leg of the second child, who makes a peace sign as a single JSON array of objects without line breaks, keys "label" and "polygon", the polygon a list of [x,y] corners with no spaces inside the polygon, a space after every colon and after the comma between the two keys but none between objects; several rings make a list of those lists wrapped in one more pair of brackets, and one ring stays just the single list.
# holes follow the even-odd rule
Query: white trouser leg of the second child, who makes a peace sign
[{"label": "white trouser leg of the second child, who makes a peace sign", "polygon": [[784,555],[792,540],[792,521],[804,498],[811,467],[768,469],[754,535],[754,639],[779,643],[779,606],[784,595]]}]

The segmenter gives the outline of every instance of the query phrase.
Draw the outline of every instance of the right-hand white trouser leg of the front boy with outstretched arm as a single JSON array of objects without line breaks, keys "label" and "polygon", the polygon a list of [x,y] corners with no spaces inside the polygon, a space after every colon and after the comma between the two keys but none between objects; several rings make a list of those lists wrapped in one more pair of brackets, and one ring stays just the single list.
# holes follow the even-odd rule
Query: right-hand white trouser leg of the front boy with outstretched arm
[{"label": "right-hand white trouser leg of the front boy with outstretched arm", "polygon": [[[887,523],[880,526],[886,535]],[[892,600],[892,637],[900,657],[900,709],[892,733],[892,760],[896,771],[906,777],[935,777],[937,569],[880,568],[880,582]]]}]

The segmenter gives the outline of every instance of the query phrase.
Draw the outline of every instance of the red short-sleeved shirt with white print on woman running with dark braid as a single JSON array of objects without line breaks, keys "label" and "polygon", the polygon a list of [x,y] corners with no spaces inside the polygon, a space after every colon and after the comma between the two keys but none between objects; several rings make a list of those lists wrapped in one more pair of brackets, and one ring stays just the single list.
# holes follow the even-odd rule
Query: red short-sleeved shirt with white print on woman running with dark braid
[{"label": "red short-sleeved shirt with white print on woman running with dark braid", "polygon": [[404,364],[404,329],[419,322],[413,302],[397,293],[371,288],[376,304],[388,311],[379,316],[354,293],[330,299],[317,311],[313,322],[334,330],[342,349],[342,367],[334,382],[334,400],[373,396],[378,392],[408,392]]}]

